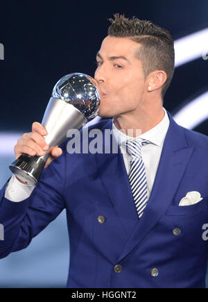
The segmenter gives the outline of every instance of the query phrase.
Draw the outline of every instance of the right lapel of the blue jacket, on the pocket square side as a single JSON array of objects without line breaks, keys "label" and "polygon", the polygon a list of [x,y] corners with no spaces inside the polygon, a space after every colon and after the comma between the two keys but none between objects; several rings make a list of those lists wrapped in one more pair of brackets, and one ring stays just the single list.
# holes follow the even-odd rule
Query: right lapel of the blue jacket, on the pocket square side
[{"label": "right lapel of the blue jacket, on the pocket square side", "polygon": [[171,204],[175,191],[180,185],[181,178],[188,165],[193,147],[187,145],[184,129],[178,126],[168,112],[170,125],[164,140],[157,174],[150,198],[133,230],[117,262],[120,262],[141,240],[146,237],[157,221],[164,215],[166,208]]}]

